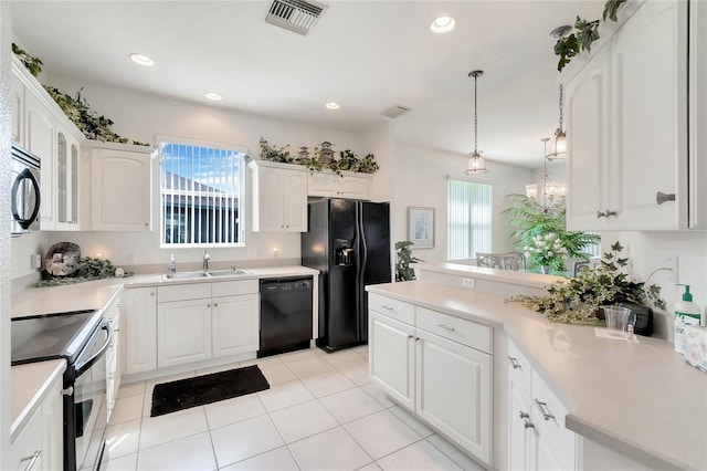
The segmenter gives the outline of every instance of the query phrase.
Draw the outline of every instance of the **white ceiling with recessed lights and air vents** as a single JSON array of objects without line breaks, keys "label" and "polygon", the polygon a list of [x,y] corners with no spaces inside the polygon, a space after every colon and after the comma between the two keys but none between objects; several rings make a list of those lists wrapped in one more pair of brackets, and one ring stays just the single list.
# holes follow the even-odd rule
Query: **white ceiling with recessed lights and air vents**
[{"label": "white ceiling with recessed lights and air vents", "polygon": [[[304,36],[265,22],[271,1],[11,1],[15,42],[66,75],[354,133],[404,105],[397,139],[497,161],[541,166],[558,125],[557,57],[549,32],[589,1],[339,1]],[[456,29],[430,22],[453,15]],[[155,59],[140,67],[128,54]],[[204,93],[218,92],[214,103]],[[338,111],[324,104],[335,101]],[[101,111],[107,116],[109,111]],[[489,168],[492,165],[489,165]]]}]

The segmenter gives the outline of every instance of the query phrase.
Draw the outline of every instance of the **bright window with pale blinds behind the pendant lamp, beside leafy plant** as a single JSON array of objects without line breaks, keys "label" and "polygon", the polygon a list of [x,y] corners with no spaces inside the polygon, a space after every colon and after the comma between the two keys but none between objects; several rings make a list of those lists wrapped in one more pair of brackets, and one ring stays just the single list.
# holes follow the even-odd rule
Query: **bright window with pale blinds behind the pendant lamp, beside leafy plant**
[{"label": "bright window with pale blinds behind the pendant lamp, beside leafy plant", "polygon": [[490,252],[493,199],[490,185],[447,181],[447,259],[474,259]]}]

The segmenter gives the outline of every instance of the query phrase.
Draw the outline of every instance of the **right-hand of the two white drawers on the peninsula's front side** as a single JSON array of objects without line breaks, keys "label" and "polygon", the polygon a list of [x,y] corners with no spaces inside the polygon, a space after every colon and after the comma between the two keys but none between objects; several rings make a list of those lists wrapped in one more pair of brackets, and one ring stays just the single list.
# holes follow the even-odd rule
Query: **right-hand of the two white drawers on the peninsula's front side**
[{"label": "right-hand of the two white drawers on the peninsula's front side", "polygon": [[436,334],[450,341],[492,353],[492,328],[453,315],[443,314],[426,307],[416,306],[415,324],[419,328]]}]

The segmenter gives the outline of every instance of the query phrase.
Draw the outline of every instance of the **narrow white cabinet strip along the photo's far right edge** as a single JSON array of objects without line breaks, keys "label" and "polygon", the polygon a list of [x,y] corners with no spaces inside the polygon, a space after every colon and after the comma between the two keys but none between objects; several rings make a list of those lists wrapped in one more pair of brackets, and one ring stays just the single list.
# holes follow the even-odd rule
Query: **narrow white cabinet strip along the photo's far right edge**
[{"label": "narrow white cabinet strip along the photo's far right edge", "polygon": [[689,4],[689,227],[707,229],[707,3]]}]

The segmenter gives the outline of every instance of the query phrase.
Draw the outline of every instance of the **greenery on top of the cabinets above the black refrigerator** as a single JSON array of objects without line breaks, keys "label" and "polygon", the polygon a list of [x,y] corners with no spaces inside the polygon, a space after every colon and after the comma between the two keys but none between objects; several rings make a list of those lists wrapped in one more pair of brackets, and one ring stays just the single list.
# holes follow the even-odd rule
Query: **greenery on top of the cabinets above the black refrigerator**
[{"label": "greenery on top of the cabinets above the black refrigerator", "polygon": [[359,158],[350,149],[339,151],[336,158],[334,149],[330,148],[331,143],[321,143],[321,146],[314,148],[314,156],[309,156],[307,147],[300,147],[299,153],[293,156],[289,153],[289,144],[283,147],[272,146],[265,138],[261,136],[261,160],[276,161],[279,164],[294,164],[307,167],[309,171],[321,171],[325,169],[333,170],[335,174],[342,176],[341,171],[354,171],[357,174],[374,174],[380,169],[373,154],[368,154],[363,158]]}]

